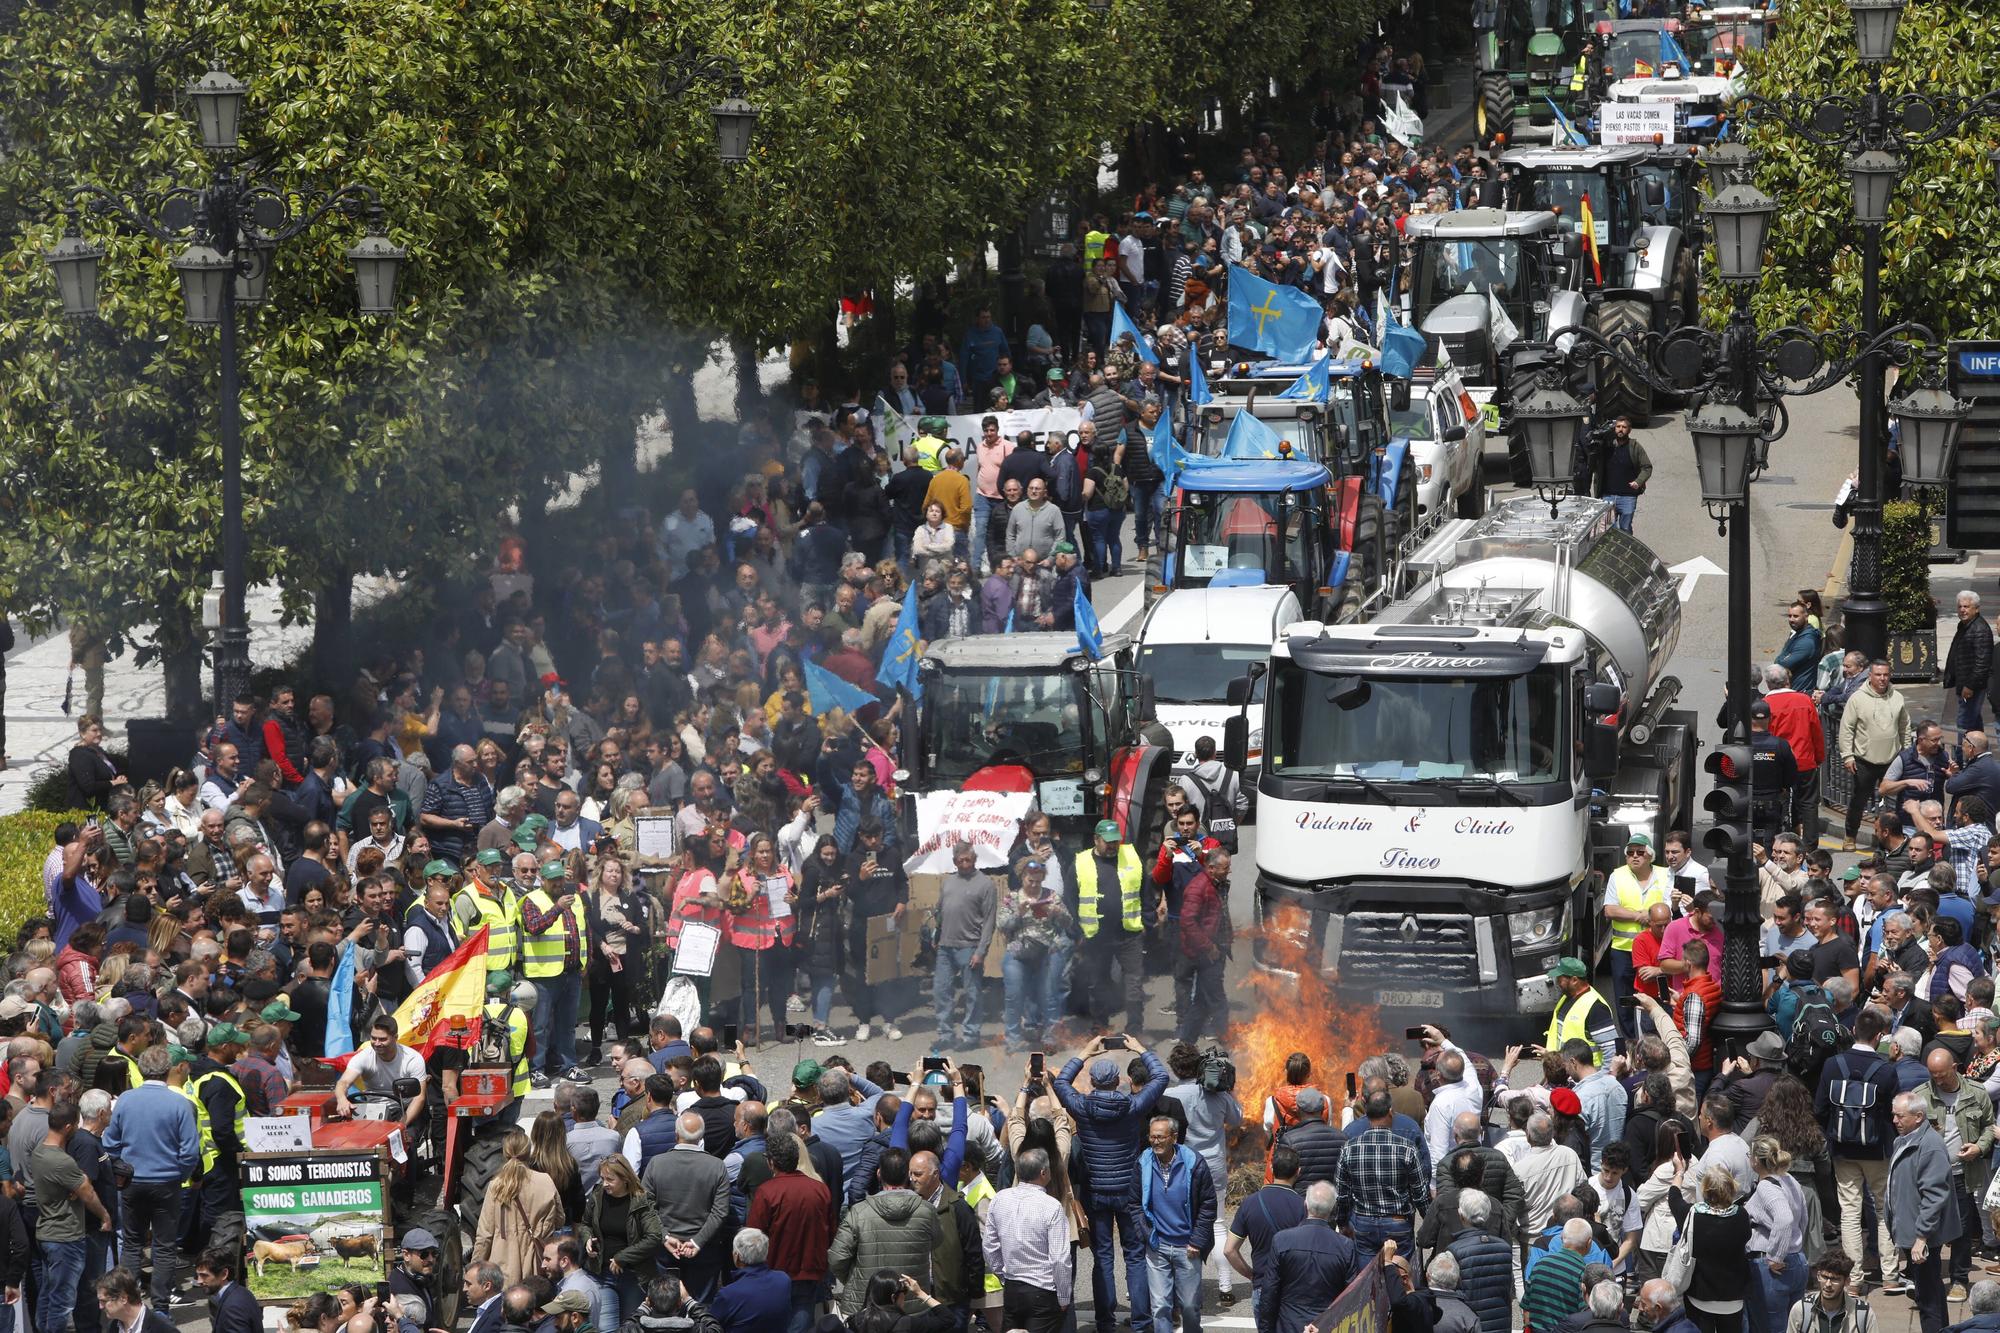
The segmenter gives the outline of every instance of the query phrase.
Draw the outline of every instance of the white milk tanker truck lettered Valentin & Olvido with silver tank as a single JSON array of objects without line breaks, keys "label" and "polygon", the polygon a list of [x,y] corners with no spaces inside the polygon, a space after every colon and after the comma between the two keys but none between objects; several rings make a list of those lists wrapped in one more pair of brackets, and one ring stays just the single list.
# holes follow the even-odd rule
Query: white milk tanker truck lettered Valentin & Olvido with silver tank
[{"label": "white milk tanker truck lettered Valentin & Olvido with silver tank", "polygon": [[[1262,697],[1258,967],[1312,969],[1386,1031],[1446,1013],[1518,1039],[1558,999],[1548,967],[1610,943],[1628,837],[1688,829],[1676,580],[1590,498],[1446,522],[1412,570],[1374,620],[1298,620],[1232,685]],[[1238,771],[1256,725],[1228,723]]]}]

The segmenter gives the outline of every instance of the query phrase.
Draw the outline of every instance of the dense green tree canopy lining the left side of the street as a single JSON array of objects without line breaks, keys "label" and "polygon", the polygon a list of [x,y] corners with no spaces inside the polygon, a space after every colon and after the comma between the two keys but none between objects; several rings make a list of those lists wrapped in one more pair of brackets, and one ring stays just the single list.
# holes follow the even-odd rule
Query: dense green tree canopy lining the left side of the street
[{"label": "dense green tree canopy lining the left side of the street", "polygon": [[[106,218],[102,322],[60,314],[42,250],[68,188],[198,184],[172,90],[212,54],[250,84],[244,146],[286,188],[358,182],[408,248],[364,320],[330,216],[240,324],[250,576],[302,612],[358,572],[448,574],[468,534],[628,446],[688,336],[776,344],[844,286],[940,270],[1096,144],[1210,94],[1304,80],[1386,0],[154,0],[0,18],[0,604],[162,624],[186,650],[220,548],[218,342],[162,246]],[[134,78],[106,66],[190,52]],[[762,108],[718,162],[724,80]]]}]

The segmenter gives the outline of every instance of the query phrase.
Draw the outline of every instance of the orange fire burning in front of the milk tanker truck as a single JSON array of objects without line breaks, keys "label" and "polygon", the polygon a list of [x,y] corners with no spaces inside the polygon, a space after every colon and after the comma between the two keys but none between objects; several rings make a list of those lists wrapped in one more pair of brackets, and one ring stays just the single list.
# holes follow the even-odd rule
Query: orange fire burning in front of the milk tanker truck
[{"label": "orange fire burning in front of the milk tanker truck", "polygon": [[[1244,989],[1252,995],[1250,1019],[1230,1031],[1230,1055],[1236,1061],[1236,1097],[1244,1105],[1244,1121],[1260,1123],[1264,1097],[1284,1087],[1284,1061],[1304,1051],[1312,1061],[1312,1087],[1326,1093],[1338,1107],[1346,1101],[1346,1075],[1360,1069],[1370,1055],[1392,1051],[1382,1031],[1382,1015],[1372,1005],[1338,1001],[1320,969],[1306,957],[1308,939],[1304,909],[1280,907],[1264,923],[1264,957],[1296,977],[1252,971]],[[1262,1151],[1262,1137],[1258,1151]],[[1262,1159],[1258,1159],[1262,1183]]]}]

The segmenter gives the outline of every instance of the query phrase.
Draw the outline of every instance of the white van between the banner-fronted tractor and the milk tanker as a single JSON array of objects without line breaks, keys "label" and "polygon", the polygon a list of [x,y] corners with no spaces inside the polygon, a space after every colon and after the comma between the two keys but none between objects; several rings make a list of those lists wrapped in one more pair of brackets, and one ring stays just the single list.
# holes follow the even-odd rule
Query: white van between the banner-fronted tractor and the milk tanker
[{"label": "white van between the banner-fronted tractor and the milk tanker", "polygon": [[[1194,741],[1212,737],[1222,755],[1222,723],[1236,715],[1228,703],[1230,681],[1252,662],[1270,660],[1270,644],[1302,618],[1298,594],[1270,584],[1176,588],[1146,610],[1138,632],[1138,669],[1152,677],[1156,717],[1174,737],[1174,773],[1194,767]],[[1256,791],[1264,765],[1264,681],[1250,707],[1250,761],[1242,779],[1246,797]]]}]

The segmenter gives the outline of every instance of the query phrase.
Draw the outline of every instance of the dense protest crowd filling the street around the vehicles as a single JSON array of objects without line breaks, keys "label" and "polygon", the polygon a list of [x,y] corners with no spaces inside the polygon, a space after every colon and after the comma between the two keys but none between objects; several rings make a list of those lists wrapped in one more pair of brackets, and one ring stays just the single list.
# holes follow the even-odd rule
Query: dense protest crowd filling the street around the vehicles
[{"label": "dense protest crowd filling the street around the vehicles", "polygon": [[[1420,92],[1412,62],[1378,48],[1370,90]],[[1484,198],[1470,146],[1334,102],[1314,130],[1304,168],[1260,136],[1084,218],[1022,346],[980,310],[880,384],[804,380],[664,516],[536,578],[512,548],[430,642],[232,701],[164,783],[84,717],[68,783],[100,819],[58,831],[0,999],[8,1319],[164,1333],[206,1301],[218,1333],[262,1327],[244,1119],[314,1081],[390,1095],[434,1169],[484,1063],[516,1101],[472,1333],[1192,1333],[1204,1283],[1260,1333],[1330,1333],[1342,1299],[1396,1333],[1874,1333],[1870,1295],[2000,1329],[2000,761],[1976,703],[1946,745],[1886,666],[1822,652],[1814,606],[1752,709],[1774,1031],[1742,1049],[1710,1027],[1720,907],[1686,833],[1632,841],[1610,973],[1558,965],[1538,1043],[1438,1025],[1240,1091],[1212,751],[1154,845],[1030,809],[1002,863],[956,847],[912,895],[914,644],[1076,630],[1090,580],[1156,550],[1154,426],[1228,348],[1232,268],[1368,342],[1402,220]],[[1032,410],[1062,416],[1008,438]],[[1874,829],[1838,879],[1830,743],[1848,841]],[[924,963],[878,967],[884,933]],[[478,1039],[420,1055],[396,1015],[476,937]],[[870,1045],[904,1025],[922,1069]],[[1008,1067],[964,1059],[994,1037]],[[432,1329],[446,1245],[394,1239],[386,1297],[322,1291],[292,1325]]]}]

